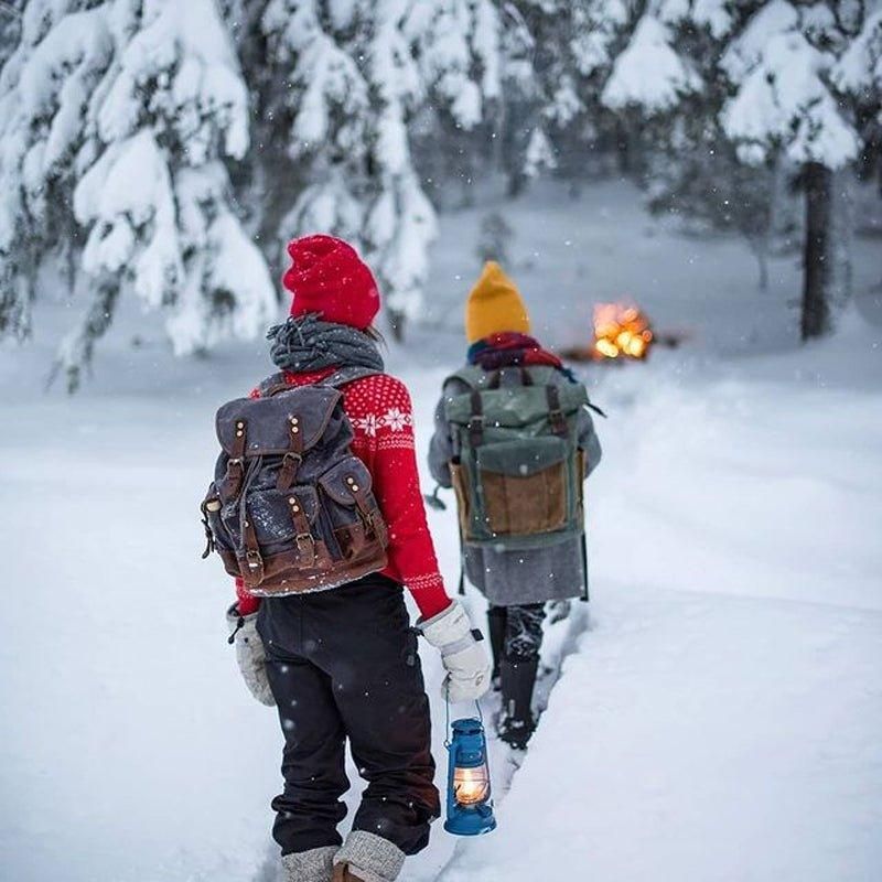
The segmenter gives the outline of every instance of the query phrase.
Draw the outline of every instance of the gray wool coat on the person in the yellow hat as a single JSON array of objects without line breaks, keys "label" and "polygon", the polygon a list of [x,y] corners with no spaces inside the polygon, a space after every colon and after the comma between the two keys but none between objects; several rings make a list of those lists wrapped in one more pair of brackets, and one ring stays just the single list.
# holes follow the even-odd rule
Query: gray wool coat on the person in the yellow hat
[{"label": "gray wool coat on the person in the yellow hat", "polygon": [[[557,374],[559,385],[570,383]],[[517,370],[504,370],[502,384],[516,386]],[[442,389],[434,412],[434,434],[429,447],[429,469],[442,486],[452,486],[450,460],[453,439],[444,416],[444,401],[469,391],[460,379],[449,379]],[[585,452],[587,474],[596,467],[601,448],[594,432],[591,413],[582,409],[579,415],[579,447]],[[486,599],[496,606],[515,606],[524,603],[542,603],[549,600],[578,598],[585,590],[582,540],[568,539],[553,548],[504,551],[487,547],[464,549],[465,574]]]}]

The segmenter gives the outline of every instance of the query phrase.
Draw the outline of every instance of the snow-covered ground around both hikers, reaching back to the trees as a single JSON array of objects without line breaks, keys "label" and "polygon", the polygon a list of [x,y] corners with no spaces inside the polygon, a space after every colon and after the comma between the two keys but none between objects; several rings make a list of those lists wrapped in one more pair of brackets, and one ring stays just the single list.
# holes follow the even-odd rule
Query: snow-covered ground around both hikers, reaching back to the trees
[{"label": "snow-covered ground around both hikers, reaching back to the trees", "polygon": [[[514,777],[492,745],[498,830],[454,840],[439,825],[404,880],[879,879],[872,244],[858,243],[859,309],[839,334],[775,354],[793,341],[795,257],[757,294],[743,245],[682,239],[616,184],[508,211],[544,335],[573,342],[594,300],[628,292],[692,336],[585,373],[610,415],[589,491],[592,602],[551,635],[562,674]],[[428,327],[389,354],[423,450],[462,353],[480,214],[443,218]],[[0,351],[0,865],[17,882],[269,882],[280,734],[237,680],[229,587],[198,559],[197,514],[213,411],[268,362],[260,343],[171,362],[149,322],[131,349],[135,329],[120,323],[73,399],[41,391],[45,338]],[[453,585],[453,513],[430,523]],[[434,695],[438,659],[423,659]]]}]

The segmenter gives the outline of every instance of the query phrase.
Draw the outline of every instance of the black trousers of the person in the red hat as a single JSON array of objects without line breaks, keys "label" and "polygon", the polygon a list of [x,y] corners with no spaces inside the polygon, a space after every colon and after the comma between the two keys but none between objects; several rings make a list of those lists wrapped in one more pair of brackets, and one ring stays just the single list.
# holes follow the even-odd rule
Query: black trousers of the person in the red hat
[{"label": "black trousers of the person in the red hat", "polygon": [[282,854],[342,842],[347,738],[367,781],[353,829],[406,854],[420,851],[440,805],[429,700],[401,587],[374,574],[267,598],[257,627],[284,733],[284,792],[272,800]]}]

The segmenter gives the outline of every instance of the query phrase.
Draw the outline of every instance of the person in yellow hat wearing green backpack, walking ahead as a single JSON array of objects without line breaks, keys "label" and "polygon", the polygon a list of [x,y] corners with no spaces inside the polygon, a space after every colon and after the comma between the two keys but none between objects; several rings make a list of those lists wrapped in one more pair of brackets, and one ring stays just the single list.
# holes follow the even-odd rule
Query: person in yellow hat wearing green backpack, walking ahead
[{"label": "person in yellow hat wearing green backpack, walking ahead", "polygon": [[469,293],[465,336],[429,467],[456,491],[464,576],[490,602],[499,736],[524,749],[546,603],[588,595],[582,482],[601,448],[584,386],[530,336],[524,299],[495,261]]}]

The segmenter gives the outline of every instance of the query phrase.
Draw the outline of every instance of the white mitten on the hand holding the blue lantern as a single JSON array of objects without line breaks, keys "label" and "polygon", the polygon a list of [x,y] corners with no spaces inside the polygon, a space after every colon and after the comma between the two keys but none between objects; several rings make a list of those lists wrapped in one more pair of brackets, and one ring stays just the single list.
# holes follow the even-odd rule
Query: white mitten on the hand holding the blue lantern
[{"label": "white mitten on the hand holding the blue lantern", "polygon": [[490,688],[491,663],[480,631],[472,623],[459,601],[453,601],[443,612],[417,622],[429,643],[441,650],[441,664],[448,676],[441,685],[441,695],[450,701],[471,701],[481,698]]}]

